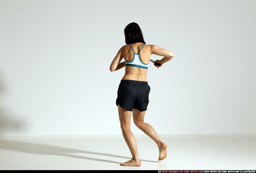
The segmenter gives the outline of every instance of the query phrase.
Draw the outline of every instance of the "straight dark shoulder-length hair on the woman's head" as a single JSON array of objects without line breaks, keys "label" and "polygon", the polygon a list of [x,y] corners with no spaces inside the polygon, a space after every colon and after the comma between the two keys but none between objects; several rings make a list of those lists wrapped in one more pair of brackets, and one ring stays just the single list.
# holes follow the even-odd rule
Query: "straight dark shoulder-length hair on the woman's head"
[{"label": "straight dark shoulder-length hair on the woman's head", "polygon": [[139,43],[139,42],[146,44],[141,32],[141,28],[135,22],[130,23],[128,24],[128,26],[125,27],[124,35],[125,35],[125,43],[127,45],[132,43]]}]

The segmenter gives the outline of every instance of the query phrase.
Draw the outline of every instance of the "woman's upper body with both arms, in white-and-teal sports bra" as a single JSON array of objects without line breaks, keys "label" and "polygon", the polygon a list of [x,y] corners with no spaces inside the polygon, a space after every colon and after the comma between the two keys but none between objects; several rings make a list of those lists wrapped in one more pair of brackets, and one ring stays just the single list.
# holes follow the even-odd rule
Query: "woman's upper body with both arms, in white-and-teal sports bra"
[{"label": "woman's upper body with both arms, in white-and-teal sports bra", "polygon": [[[147,82],[148,68],[144,67],[148,67],[149,58],[152,54],[163,57],[161,60],[155,60],[155,63],[160,64],[161,67],[164,63],[168,62],[174,57],[173,52],[162,49],[157,45],[145,45],[142,42],[132,43],[122,46],[117,52],[115,58],[110,64],[110,71],[116,71],[125,67],[125,75],[123,76],[122,80]],[[123,58],[125,62],[121,63]],[[133,61],[134,58],[135,63]],[[155,66],[157,68],[160,67],[157,65]]]}]

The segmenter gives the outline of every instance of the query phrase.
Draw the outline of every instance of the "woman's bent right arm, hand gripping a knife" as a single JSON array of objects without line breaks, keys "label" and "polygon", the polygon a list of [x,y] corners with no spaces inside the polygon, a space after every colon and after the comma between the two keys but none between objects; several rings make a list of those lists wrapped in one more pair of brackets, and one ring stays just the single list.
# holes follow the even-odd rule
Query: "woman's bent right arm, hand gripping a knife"
[{"label": "woman's bent right arm, hand gripping a knife", "polygon": [[[162,49],[158,47],[157,45],[151,45],[151,53],[162,56],[163,58],[161,60],[155,60],[156,63],[164,64],[174,58],[174,53],[172,51],[168,51],[166,49]],[[157,68],[159,67],[158,65],[155,65]]]}]

